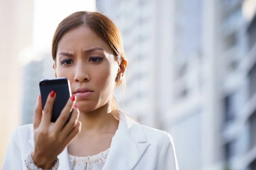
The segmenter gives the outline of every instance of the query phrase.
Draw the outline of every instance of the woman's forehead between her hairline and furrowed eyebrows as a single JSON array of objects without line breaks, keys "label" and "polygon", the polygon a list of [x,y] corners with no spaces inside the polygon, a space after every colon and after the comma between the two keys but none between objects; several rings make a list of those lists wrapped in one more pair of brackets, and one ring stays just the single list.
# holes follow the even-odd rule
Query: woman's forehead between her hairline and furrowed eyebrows
[{"label": "woman's forehead between her hairline and furrowed eyebrows", "polygon": [[112,49],[105,40],[102,40],[95,31],[88,26],[74,28],[61,37],[58,42],[57,51],[76,51],[86,50],[93,47],[103,48],[108,53],[113,53]]}]

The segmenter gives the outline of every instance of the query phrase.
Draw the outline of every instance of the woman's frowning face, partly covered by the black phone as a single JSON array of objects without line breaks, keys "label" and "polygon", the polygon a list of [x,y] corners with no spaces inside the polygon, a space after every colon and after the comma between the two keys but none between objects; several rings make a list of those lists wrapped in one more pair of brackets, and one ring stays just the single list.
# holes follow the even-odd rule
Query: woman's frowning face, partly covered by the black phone
[{"label": "woman's frowning face, partly covered by the black phone", "polygon": [[110,103],[120,71],[108,43],[87,26],[64,34],[58,43],[54,68],[55,77],[70,80],[81,112]]}]

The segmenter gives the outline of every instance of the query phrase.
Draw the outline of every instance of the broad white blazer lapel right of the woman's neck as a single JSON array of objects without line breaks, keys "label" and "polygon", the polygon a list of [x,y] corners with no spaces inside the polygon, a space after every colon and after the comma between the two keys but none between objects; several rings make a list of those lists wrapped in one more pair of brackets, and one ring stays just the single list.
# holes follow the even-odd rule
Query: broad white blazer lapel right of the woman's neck
[{"label": "broad white blazer lapel right of the woman's neck", "polygon": [[141,125],[120,114],[118,130],[102,170],[132,170],[149,145]]}]

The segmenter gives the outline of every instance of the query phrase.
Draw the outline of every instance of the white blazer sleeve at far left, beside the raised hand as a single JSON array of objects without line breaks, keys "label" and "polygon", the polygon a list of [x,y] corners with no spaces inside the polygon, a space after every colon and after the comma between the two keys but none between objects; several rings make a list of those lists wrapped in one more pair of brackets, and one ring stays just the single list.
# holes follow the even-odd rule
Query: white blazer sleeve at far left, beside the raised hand
[{"label": "white blazer sleeve at far left, beside the raised hand", "polygon": [[17,129],[12,132],[12,137],[7,147],[3,161],[3,170],[22,170],[22,160],[19,148]]}]

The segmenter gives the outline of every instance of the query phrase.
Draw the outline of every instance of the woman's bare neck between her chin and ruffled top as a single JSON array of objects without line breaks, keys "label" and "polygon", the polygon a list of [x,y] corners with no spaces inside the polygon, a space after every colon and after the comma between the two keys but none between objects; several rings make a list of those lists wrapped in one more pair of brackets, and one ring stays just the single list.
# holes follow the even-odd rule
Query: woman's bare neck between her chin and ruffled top
[{"label": "woman's bare neck between her chin and ruffled top", "polygon": [[111,114],[110,105],[104,105],[91,112],[80,112],[81,135],[95,133],[115,133],[118,120]]}]

